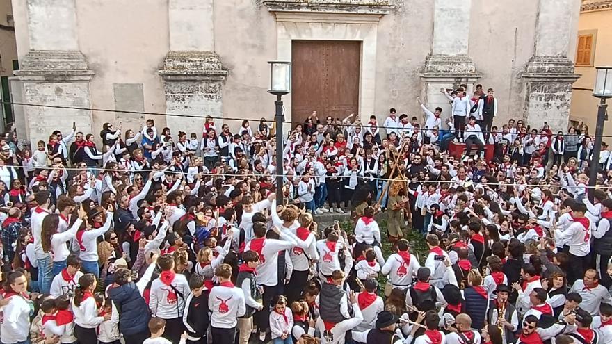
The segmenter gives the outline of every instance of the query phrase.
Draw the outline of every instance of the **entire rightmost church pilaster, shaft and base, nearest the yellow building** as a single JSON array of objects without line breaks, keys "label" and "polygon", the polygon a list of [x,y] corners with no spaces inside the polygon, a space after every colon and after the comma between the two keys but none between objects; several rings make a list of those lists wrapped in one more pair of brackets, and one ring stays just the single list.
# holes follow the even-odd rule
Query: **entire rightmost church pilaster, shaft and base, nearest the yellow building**
[{"label": "entire rightmost church pilaster, shaft and base, nearest the yellow building", "polygon": [[536,27],[536,54],[521,77],[525,83],[525,119],[540,129],[547,122],[553,131],[567,129],[574,74],[570,39],[572,22],[580,6],[574,0],[540,0]]}]

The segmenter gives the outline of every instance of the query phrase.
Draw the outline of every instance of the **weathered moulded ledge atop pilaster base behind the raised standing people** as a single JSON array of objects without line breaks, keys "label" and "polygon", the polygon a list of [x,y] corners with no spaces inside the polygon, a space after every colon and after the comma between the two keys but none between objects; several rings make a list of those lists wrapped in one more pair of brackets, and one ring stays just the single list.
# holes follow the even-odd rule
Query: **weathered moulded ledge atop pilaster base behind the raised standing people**
[{"label": "weathered moulded ledge atop pilaster base behind the raised standing people", "polygon": [[476,72],[474,61],[467,55],[428,55],[425,66],[422,69],[423,77],[472,77],[480,78],[481,74]]}]

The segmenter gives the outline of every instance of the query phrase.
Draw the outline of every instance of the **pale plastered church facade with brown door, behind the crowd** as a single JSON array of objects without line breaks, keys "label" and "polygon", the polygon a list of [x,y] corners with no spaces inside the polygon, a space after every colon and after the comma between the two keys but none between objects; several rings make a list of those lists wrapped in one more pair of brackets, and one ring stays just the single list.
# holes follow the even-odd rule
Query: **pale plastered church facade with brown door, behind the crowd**
[{"label": "pale plastered church facade with brown door, behind the crowd", "polygon": [[417,97],[448,115],[440,88],[481,83],[499,99],[496,124],[565,130],[580,2],[13,0],[13,101],[86,108],[14,106],[17,129],[35,142],[72,122],[98,133],[153,117],[198,135],[206,115],[255,125],[273,119],[267,61],[290,60],[293,122],[317,110],[382,123],[390,107],[420,115]]}]

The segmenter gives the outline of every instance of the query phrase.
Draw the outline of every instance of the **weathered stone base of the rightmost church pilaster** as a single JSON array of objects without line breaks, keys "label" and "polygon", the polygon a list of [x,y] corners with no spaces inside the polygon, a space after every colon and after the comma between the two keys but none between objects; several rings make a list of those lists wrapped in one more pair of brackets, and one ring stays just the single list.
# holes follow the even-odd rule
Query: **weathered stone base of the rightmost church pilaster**
[{"label": "weathered stone base of the rightmost church pilaster", "polygon": [[568,58],[533,56],[521,74],[525,82],[526,123],[540,130],[546,122],[553,132],[567,131],[572,84],[579,77]]}]

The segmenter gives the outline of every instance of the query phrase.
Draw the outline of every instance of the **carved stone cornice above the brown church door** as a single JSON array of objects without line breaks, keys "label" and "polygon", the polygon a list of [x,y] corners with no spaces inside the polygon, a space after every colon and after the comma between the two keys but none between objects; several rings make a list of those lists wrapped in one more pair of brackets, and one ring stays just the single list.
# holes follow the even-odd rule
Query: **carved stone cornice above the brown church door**
[{"label": "carved stone cornice above the brown church door", "polygon": [[396,0],[264,0],[271,12],[318,12],[387,15]]}]

